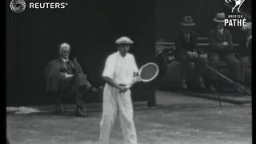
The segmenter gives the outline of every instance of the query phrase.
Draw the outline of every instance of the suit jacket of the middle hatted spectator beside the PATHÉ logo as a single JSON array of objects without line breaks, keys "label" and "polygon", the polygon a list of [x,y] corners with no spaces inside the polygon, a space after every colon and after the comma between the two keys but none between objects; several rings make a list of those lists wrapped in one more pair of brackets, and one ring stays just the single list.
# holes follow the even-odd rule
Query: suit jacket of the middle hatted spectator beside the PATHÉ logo
[{"label": "suit jacket of the middle hatted spectator beside the PATH\u00c9 logo", "polygon": [[[209,34],[210,52],[216,52],[218,54],[228,54],[234,52],[233,50],[233,38],[230,30],[223,30],[223,34],[216,29],[210,30]],[[228,42],[228,46],[222,46],[222,42]]]}]

